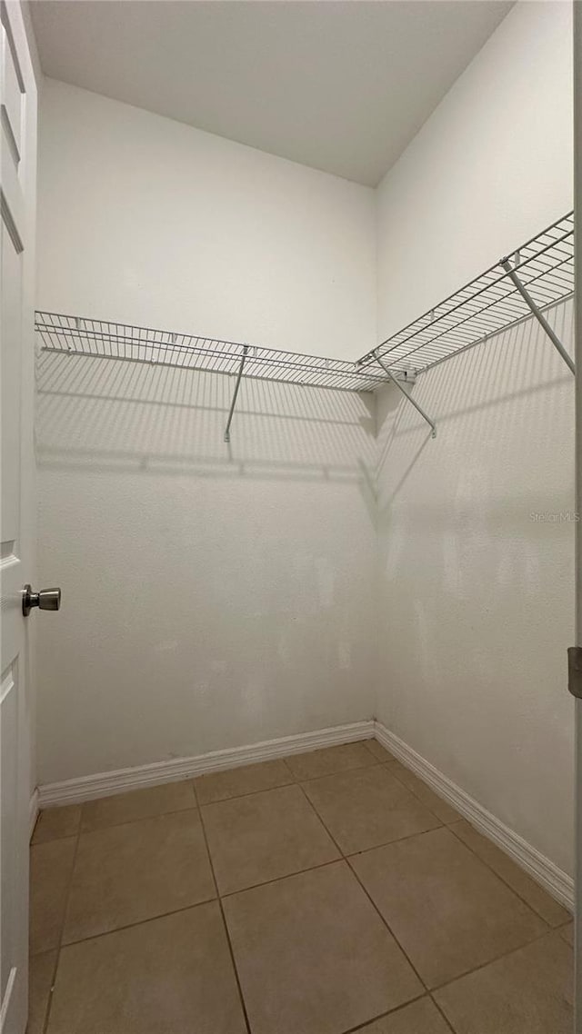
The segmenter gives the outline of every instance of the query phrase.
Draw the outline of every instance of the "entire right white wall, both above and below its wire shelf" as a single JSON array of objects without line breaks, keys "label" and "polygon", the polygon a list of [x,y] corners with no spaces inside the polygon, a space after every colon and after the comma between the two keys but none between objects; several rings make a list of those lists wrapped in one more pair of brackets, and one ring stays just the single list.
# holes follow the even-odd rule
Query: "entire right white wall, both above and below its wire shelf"
[{"label": "entire right white wall, both above and below its wire shelf", "polygon": [[[520,3],[379,190],[379,334],[572,208],[571,7]],[[572,348],[572,311],[552,321]],[[537,326],[379,401],[378,716],[572,869],[573,378]]]}]

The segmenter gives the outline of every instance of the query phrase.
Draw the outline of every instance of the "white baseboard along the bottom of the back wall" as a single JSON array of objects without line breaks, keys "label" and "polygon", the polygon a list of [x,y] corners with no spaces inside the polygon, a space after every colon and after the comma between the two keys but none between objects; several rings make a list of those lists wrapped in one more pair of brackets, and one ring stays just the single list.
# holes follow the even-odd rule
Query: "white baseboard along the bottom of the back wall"
[{"label": "white baseboard along the bottom of the back wall", "polygon": [[107,797],[126,790],[141,790],[156,783],[173,783],[176,780],[203,776],[205,772],[220,771],[222,768],[255,764],[258,761],[283,758],[288,754],[315,751],[320,747],[334,747],[338,743],[351,743],[357,739],[371,739],[373,736],[374,721],[371,719],[367,722],[353,722],[351,725],[333,726],[331,729],[318,729],[315,732],[301,732],[295,736],[268,739],[250,747],[233,747],[227,751],[212,751],[210,754],[199,754],[192,758],[173,758],[170,761],[156,761],[136,768],[119,768],[117,771],[81,776],[79,779],[47,783],[38,787],[36,807],[75,804],[82,800]]}]

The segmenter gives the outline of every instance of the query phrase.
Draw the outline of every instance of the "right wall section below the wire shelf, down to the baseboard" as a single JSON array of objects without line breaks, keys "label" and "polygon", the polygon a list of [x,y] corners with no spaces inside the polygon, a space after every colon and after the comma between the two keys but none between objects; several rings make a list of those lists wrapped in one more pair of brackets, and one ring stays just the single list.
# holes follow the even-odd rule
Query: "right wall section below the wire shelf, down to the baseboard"
[{"label": "right wall section below the wire shelf, down to the baseboard", "polygon": [[570,871],[574,377],[530,320],[413,390],[434,440],[378,397],[378,716]]}]

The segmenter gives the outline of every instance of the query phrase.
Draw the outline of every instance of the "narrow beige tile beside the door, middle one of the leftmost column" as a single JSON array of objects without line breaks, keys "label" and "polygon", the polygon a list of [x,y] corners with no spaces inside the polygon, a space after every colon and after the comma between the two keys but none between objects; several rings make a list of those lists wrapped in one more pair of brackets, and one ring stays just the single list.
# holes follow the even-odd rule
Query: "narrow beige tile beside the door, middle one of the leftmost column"
[{"label": "narrow beige tile beside the door, middle one of the leftmost column", "polygon": [[34,844],[30,849],[30,951],[59,945],[77,838]]}]

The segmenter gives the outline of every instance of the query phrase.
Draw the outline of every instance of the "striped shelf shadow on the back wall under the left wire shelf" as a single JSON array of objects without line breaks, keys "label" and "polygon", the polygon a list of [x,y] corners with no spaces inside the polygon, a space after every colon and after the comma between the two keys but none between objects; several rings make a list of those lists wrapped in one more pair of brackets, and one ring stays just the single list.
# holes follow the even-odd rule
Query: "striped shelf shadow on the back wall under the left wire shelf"
[{"label": "striped shelf shadow on the back wall under the left wire shelf", "polygon": [[375,466],[371,394],[41,352],[41,466],[156,475],[348,481],[367,498]]}]

